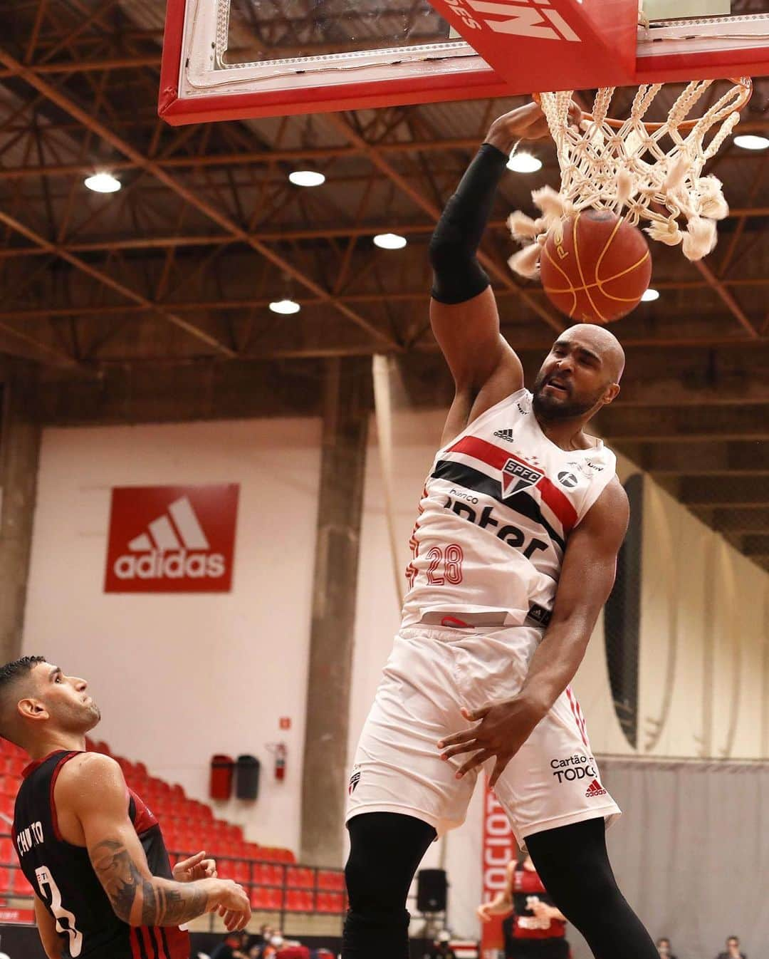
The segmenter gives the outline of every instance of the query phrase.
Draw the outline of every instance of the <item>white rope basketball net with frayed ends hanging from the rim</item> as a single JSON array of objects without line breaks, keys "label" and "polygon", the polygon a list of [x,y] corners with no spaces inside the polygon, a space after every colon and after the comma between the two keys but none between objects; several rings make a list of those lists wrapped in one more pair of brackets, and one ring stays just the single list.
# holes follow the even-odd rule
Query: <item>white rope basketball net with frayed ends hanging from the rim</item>
[{"label": "white rope basketball net with frayed ends hanging from the rim", "polygon": [[[701,118],[689,119],[711,83],[690,82],[661,124],[643,118],[662,83],[641,85],[622,122],[608,115],[615,88],[599,89],[592,119],[583,120],[579,129],[571,124],[571,90],[540,94],[558,152],[561,190],[545,187],[532,193],[540,219],[520,212],[510,217],[513,238],[526,245],[508,261],[511,269],[535,275],[549,232],[586,207],[611,210],[634,226],[648,222],[645,230],[652,239],[682,244],[689,260],[707,256],[716,243],[716,221],[729,214],[729,207],[721,181],[702,176],[702,169],[739,122],[739,109],[752,90],[749,79],[734,81]],[[706,147],[703,141],[713,128]]]}]

